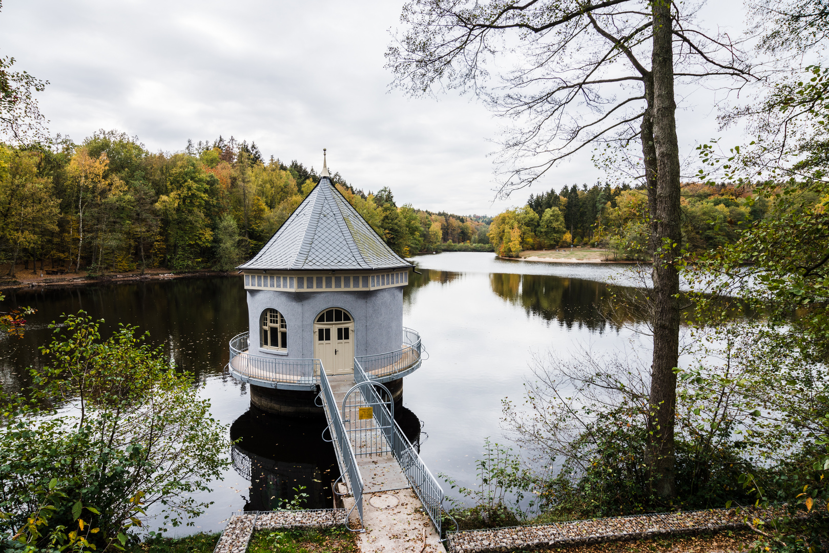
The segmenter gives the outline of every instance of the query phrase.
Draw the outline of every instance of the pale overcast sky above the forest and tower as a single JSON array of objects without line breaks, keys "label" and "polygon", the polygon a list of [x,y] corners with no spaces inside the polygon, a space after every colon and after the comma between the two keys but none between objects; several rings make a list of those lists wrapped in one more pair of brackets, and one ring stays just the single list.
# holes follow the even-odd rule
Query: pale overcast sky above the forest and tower
[{"label": "pale overcast sky above the forest and tower", "polygon": [[[743,22],[739,2],[716,2],[710,27]],[[138,135],[151,150],[187,138],[255,141],[274,155],[329,167],[352,185],[391,187],[398,205],[495,215],[530,192],[604,180],[589,154],[545,181],[493,202],[484,107],[452,93],[409,99],[389,92],[383,68],[402,2],[119,2],[3,0],[0,56],[51,81],[39,95],[52,133],[80,142],[96,129]],[[728,27],[725,27],[728,28]],[[680,143],[739,136],[717,130],[712,93],[678,90]]]}]

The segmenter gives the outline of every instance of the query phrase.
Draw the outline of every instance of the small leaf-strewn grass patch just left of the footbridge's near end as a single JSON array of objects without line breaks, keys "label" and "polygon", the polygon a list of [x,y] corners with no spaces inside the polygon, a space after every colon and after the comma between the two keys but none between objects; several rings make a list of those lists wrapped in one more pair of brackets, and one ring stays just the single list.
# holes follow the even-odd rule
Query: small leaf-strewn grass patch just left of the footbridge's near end
[{"label": "small leaf-strewn grass patch just left of the footbridge's near end", "polygon": [[248,553],[351,553],[359,551],[356,533],[346,528],[262,530],[250,539]]}]

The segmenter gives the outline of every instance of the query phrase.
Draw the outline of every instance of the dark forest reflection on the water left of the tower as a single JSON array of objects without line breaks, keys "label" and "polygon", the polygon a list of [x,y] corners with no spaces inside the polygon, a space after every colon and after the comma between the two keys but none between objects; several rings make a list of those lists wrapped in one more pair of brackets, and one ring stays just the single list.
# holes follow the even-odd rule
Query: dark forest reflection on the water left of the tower
[{"label": "dark forest reflection on the water left of the tower", "polygon": [[51,340],[52,321],[83,309],[104,319],[101,335],[119,323],[149,332],[150,342],[196,381],[221,374],[228,360],[227,342],[248,323],[245,289],[239,279],[175,279],[124,284],[99,284],[65,289],[23,289],[6,293],[4,305],[31,306],[27,332],[21,340],[0,342],[3,381],[27,386],[27,366],[41,363],[38,347]]}]

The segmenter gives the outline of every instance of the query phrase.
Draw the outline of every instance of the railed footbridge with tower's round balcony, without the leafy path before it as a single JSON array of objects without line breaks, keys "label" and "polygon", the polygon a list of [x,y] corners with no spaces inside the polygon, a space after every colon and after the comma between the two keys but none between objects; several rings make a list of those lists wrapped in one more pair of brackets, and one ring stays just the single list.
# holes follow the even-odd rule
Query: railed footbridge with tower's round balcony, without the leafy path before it
[{"label": "railed footbridge with tower's round balcony, without the leafy path before it", "polygon": [[[422,362],[419,334],[404,328],[402,338],[399,350],[355,357],[351,374],[329,375],[319,359],[250,354],[244,332],[230,341],[227,369],[237,380],[255,386],[318,391],[316,402],[327,419],[323,439],[333,445],[341,474],[337,483],[347,486],[347,503],[353,501],[349,515],[356,514],[361,528],[371,526],[366,525],[364,497],[410,490],[406,497],[419,500],[439,539],[444,491],[395,421],[394,400],[384,386],[417,370]],[[334,488],[342,495],[340,486]]]}]

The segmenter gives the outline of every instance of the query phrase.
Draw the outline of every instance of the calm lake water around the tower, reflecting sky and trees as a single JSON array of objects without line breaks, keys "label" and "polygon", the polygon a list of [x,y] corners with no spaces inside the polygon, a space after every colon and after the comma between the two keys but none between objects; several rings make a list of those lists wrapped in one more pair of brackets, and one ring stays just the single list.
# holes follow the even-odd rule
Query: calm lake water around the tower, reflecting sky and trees
[{"label": "calm lake water around the tower, reflecting sky and trees", "polygon": [[[535,354],[569,356],[589,345],[597,352],[633,347],[650,355],[647,340],[640,342],[631,329],[641,315],[608,308],[611,293],[631,291],[621,284],[636,283],[625,265],[532,263],[466,252],[414,261],[422,274],[413,274],[405,288],[403,323],[420,333],[429,358],[405,377],[400,422],[413,438],[422,428],[420,454],[434,474],[473,485],[484,440],[509,442],[500,425],[502,400],[521,400]],[[152,342],[191,371],[213,415],[241,439],[235,466],[214,483],[214,504],[194,526],[173,535],[221,530],[231,512],[274,507],[299,485],[311,495],[308,507],[330,506],[338,471],[331,445],[321,438],[324,422],[251,410],[247,386],[225,373],[230,338],[248,330],[241,277],[27,289],[7,293],[2,310],[18,305],[37,313],[22,340],[0,340],[7,385],[27,384],[24,367],[41,362],[37,347],[51,339],[51,321],[84,309],[105,319],[104,336],[118,323],[150,332]]]}]

